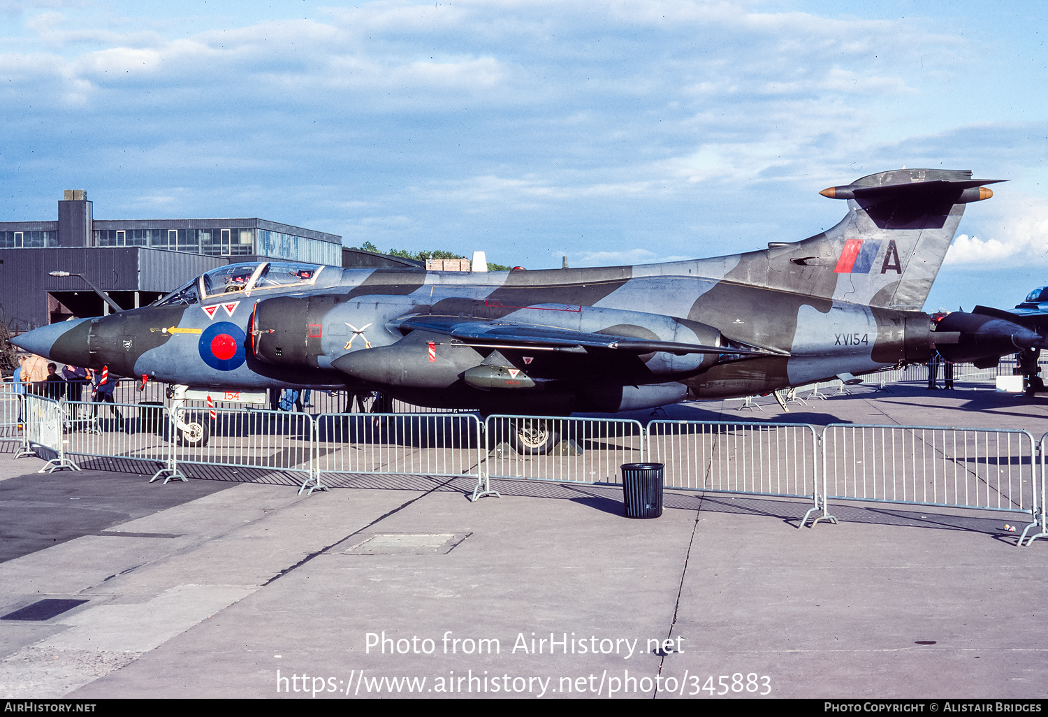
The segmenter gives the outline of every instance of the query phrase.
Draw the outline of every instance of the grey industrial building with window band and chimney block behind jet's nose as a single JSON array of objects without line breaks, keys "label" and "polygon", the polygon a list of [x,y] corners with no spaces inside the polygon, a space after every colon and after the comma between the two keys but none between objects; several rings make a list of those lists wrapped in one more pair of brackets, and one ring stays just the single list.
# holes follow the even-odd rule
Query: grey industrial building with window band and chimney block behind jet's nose
[{"label": "grey industrial building with window band and chimney block behind jet's nose", "polygon": [[132,308],[231,262],[343,265],[342,237],[301,226],[258,218],[94,219],[83,190],[66,190],[58,204],[57,221],[0,222],[0,307],[13,333],[108,313],[84,279]]}]

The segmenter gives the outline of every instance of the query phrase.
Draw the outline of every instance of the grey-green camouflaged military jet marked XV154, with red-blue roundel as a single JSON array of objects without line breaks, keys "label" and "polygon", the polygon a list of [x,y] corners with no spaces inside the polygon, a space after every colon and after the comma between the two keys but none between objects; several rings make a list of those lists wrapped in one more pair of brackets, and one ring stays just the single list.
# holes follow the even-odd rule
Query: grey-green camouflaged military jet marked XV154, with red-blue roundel
[{"label": "grey-green camouflaged military jet marked XV154, with red-blue roundel", "polygon": [[851,382],[925,362],[937,347],[956,361],[996,360],[1041,336],[920,311],[964,205],[992,196],[994,181],[871,174],[822,192],[848,201],[834,227],[714,259],[492,273],[231,264],[148,307],[14,343],[176,385],[176,399],[190,388],[309,387],[526,415]]}]

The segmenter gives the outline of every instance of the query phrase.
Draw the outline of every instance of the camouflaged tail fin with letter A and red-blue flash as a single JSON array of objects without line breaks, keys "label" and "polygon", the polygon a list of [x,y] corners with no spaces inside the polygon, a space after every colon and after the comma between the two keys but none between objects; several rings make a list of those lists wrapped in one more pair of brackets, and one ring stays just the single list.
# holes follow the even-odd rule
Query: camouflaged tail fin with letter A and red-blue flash
[{"label": "camouflaged tail fin with letter A and red-blue flash", "polygon": [[[821,194],[847,199],[849,207],[836,226],[744,254],[725,279],[757,279],[768,288],[813,297],[920,309],[964,204],[991,197],[982,184],[996,181],[1001,180],[973,179],[966,170],[895,170],[831,187]],[[760,282],[760,274],[765,281]]]}]

